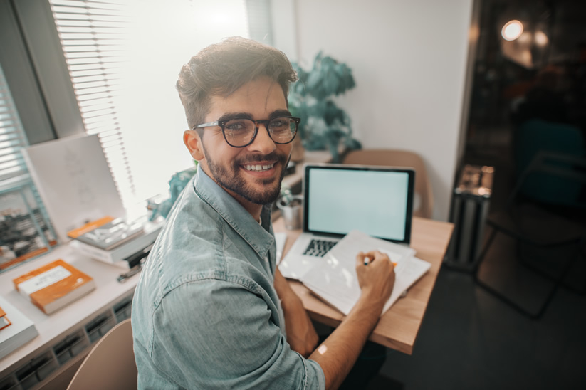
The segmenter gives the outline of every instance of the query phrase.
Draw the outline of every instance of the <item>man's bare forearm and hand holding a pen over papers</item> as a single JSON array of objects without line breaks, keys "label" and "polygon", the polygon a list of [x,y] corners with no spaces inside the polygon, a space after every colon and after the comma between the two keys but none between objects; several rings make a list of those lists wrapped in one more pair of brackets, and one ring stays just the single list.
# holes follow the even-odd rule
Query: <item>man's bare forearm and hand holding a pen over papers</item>
[{"label": "man's bare forearm and hand holding a pen over papers", "polygon": [[[369,265],[365,265],[365,257],[370,258]],[[394,285],[393,265],[387,255],[379,251],[359,253],[356,273],[362,290],[360,300],[309,357],[323,369],[326,389],[338,389],[352,369],[369,334],[375,329]]]}]

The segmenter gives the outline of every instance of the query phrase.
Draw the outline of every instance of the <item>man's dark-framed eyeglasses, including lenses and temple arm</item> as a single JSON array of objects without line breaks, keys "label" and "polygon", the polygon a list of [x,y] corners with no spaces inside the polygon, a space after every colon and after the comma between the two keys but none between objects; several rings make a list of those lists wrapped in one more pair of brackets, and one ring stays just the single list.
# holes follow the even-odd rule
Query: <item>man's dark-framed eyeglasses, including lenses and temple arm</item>
[{"label": "man's dark-framed eyeglasses, including lenses and temple arm", "polygon": [[201,127],[221,127],[224,139],[231,147],[246,147],[256,138],[258,125],[264,125],[276,144],[288,144],[293,141],[301,118],[298,117],[276,117],[269,120],[251,120],[248,118],[234,118],[231,120],[219,120],[216,122],[202,123],[192,130]]}]

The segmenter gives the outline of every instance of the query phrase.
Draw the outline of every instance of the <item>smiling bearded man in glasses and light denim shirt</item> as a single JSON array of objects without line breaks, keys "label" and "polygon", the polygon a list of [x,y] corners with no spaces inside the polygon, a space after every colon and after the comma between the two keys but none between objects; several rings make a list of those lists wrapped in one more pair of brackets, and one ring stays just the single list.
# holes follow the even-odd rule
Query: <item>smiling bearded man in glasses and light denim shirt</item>
[{"label": "smiling bearded man in glasses and light denim shirt", "polygon": [[335,389],[377,323],[394,283],[386,255],[357,255],[360,300],[319,346],[276,268],[271,204],[300,122],[287,110],[295,78],[283,53],[244,38],[205,48],[179,74],[183,141],[199,168],[136,288],[140,389]]}]

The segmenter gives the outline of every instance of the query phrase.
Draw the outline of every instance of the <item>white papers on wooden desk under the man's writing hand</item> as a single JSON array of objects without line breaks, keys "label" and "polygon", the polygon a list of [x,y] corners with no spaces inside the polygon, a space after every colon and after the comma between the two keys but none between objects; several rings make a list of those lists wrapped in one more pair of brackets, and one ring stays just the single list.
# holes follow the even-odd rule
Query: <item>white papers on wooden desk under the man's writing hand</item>
[{"label": "white papers on wooden desk under the man's writing hand", "polygon": [[360,285],[356,276],[356,255],[373,250],[386,253],[395,268],[395,282],[391,297],[384,305],[386,312],[399,299],[402,292],[411,287],[426,273],[431,264],[415,258],[412,248],[400,246],[360,231],[351,231],[326,255],[324,261],[303,275],[301,282],[330,305],[347,315],[360,297]]}]

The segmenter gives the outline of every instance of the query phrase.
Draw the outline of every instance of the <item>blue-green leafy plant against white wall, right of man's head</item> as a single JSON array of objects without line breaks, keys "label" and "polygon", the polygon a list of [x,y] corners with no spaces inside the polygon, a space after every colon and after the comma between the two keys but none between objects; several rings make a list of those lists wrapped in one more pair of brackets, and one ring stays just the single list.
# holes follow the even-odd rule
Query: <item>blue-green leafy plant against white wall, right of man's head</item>
[{"label": "blue-green leafy plant against white wall, right of man's head", "polygon": [[289,110],[300,117],[299,136],[308,150],[329,149],[333,161],[338,162],[340,145],[345,149],[360,149],[352,138],[350,117],[338,107],[334,96],[355,87],[352,70],[345,63],[318,53],[313,68],[305,71],[293,63],[299,80],[291,86]]}]

